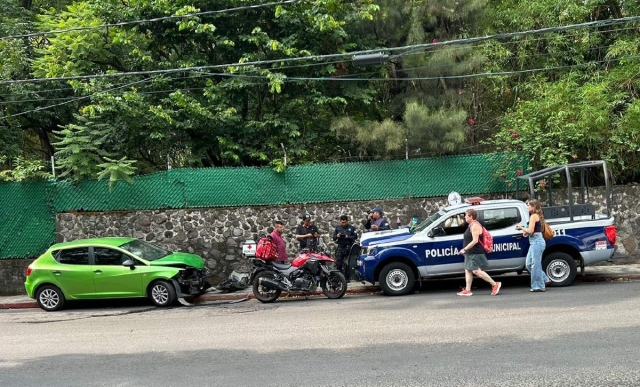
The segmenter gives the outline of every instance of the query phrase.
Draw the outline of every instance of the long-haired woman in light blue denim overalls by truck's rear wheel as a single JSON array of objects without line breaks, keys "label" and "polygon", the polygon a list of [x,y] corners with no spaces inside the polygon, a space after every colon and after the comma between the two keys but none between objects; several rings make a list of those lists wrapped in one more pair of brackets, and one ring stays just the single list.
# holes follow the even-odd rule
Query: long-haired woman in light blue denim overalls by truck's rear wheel
[{"label": "long-haired woman in light blue denim overalls by truck's rear wheel", "polygon": [[546,247],[542,237],[542,208],[538,200],[532,199],[527,202],[527,209],[531,217],[527,227],[516,226],[517,230],[522,230],[523,236],[529,237],[529,252],[527,253],[526,266],[531,273],[531,292],[544,292],[545,284],[549,282],[549,277],[542,270],[542,252]]}]

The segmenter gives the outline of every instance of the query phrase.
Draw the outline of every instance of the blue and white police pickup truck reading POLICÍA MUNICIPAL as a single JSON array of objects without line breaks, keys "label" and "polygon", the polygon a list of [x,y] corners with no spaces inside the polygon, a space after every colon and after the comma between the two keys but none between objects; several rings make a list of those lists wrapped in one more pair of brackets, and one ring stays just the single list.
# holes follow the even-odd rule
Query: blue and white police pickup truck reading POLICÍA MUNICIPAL
[{"label": "blue and white police pickup truck reading POLIC\u00cdA MUNICIPAL", "polygon": [[[606,182],[606,213],[596,213],[593,204],[587,202],[585,185],[578,192],[572,186],[577,172],[585,183],[586,171],[601,167],[600,176]],[[564,184],[558,176],[566,177]],[[533,198],[547,188],[548,205],[543,207],[544,217],[555,236],[547,241],[542,257],[543,270],[551,286],[570,285],[580,267],[611,259],[615,252],[616,227],[611,215],[610,175],[604,161],[584,162],[547,168],[519,176],[518,181],[529,184],[529,197]],[[545,184],[540,185],[540,181]],[[568,192],[566,200],[553,205],[553,182]],[[519,186],[519,184],[517,184]],[[516,189],[518,193],[518,188]],[[575,201],[575,203],[574,203]],[[468,200],[441,209],[413,228],[387,230],[363,234],[359,249],[356,247],[357,275],[368,282],[378,282],[387,295],[399,296],[411,293],[416,281],[438,277],[464,275],[464,257],[460,254],[462,238],[467,224],[464,212],[474,208],[478,220],[493,236],[493,252],[487,254],[490,274],[522,273],[526,270],[525,258],[529,239],[516,230],[525,225],[529,213],[522,200]]]}]

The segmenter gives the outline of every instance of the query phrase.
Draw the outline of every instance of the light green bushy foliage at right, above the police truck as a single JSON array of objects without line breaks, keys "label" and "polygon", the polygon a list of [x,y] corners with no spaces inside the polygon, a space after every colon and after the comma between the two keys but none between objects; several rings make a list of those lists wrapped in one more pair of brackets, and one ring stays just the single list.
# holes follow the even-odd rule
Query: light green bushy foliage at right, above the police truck
[{"label": "light green bushy foliage at right, above the police truck", "polygon": [[[500,32],[623,16],[623,8],[605,1],[497,3],[492,28]],[[492,71],[573,66],[486,81],[487,102],[493,100],[491,104],[503,109],[495,112],[498,131],[487,144],[527,155],[533,168],[605,159],[617,178],[634,179],[640,167],[640,132],[634,123],[640,83],[633,70],[640,64],[639,45],[640,40],[623,28],[583,29],[485,46]],[[504,109],[509,103],[512,107]]]}]

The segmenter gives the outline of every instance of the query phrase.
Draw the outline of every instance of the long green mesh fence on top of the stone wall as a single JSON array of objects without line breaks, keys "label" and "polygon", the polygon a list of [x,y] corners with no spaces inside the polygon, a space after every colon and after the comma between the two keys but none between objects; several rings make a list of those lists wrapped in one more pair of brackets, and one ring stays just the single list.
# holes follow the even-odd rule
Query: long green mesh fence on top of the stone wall
[{"label": "long green mesh fence on top of the stone wall", "polygon": [[118,182],[0,184],[0,259],[34,257],[55,239],[55,214],[348,202],[512,191],[500,154],[270,168],[174,169]]}]

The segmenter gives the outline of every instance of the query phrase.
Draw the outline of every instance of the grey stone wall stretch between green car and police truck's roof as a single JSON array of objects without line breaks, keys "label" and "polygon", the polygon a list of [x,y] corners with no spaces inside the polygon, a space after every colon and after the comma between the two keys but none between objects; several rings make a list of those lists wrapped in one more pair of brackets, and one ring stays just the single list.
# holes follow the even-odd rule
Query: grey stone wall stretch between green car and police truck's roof
[{"label": "grey stone wall stretch between green car and police truck's roof", "polygon": [[130,236],[156,243],[172,251],[188,251],[202,256],[219,283],[233,270],[248,272],[249,262],[242,257],[242,242],[273,231],[276,220],[285,223],[287,252],[295,255],[298,242],[293,235],[303,214],[324,235],[332,250],[333,229],[340,215],[348,215],[361,231],[369,210],[381,205],[395,228],[397,218],[408,224],[411,217],[424,219],[444,206],[446,198],[378,202],[324,203],[285,207],[239,207],[191,210],[154,210],[111,213],[63,213],[57,215],[58,242],[103,236]]}]

